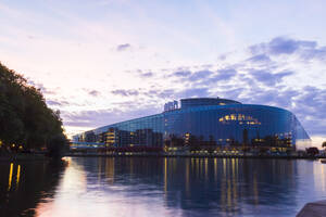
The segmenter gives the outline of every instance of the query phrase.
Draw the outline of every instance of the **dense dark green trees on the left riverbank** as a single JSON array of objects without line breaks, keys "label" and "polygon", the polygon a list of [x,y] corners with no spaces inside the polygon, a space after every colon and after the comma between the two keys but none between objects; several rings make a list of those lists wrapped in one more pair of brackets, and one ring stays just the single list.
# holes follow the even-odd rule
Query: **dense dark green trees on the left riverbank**
[{"label": "dense dark green trees on the left riverbank", "polygon": [[60,112],[49,108],[26,78],[0,63],[0,151],[58,155],[65,144]]}]

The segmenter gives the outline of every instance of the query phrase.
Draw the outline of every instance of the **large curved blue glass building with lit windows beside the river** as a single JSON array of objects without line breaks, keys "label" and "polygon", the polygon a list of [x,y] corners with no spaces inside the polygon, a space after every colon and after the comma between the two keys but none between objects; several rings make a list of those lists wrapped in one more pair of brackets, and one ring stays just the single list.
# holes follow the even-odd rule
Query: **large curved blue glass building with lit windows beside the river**
[{"label": "large curved blue glass building with lit windows beside the river", "polygon": [[311,139],[289,111],[220,98],[166,103],[156,115],[116,123],[73,137],[105,146],[267,146],[284,151]]}]

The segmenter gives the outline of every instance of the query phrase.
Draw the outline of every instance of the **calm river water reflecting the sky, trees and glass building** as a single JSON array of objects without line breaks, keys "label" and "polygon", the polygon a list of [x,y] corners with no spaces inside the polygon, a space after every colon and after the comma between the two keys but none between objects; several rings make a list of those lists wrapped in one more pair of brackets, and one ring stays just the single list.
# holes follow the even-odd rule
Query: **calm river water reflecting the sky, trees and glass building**
[{"label": "calm river water reflecting the sky, trees and glass building", "polygon": [[294,216],[326,200],[317,161],[75,157],[1,163],[0,216]]}]

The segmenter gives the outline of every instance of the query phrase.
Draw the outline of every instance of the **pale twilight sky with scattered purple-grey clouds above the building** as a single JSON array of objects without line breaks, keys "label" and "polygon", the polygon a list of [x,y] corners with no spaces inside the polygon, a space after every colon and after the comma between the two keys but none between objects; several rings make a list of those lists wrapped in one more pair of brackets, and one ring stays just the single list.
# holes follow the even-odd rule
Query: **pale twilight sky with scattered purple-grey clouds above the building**
[{"label": "pale twilight sky with scattered purple-grey clouds above the building", "polygon": [[326,1],[0,0],[0,62],[68,136],[220,97],[291,111],[326,140]]}]

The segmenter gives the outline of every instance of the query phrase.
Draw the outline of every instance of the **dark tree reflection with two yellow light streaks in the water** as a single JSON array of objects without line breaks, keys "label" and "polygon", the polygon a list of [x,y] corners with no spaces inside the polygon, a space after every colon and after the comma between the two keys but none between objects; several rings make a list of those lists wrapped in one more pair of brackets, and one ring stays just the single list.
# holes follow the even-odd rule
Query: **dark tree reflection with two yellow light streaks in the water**
[{"label": "dark tree reflection with two yellow light streaks in the water", "polygon": [[35,216],[35,207],[53,199],[62,162],[0,163],[0,216]]}]

